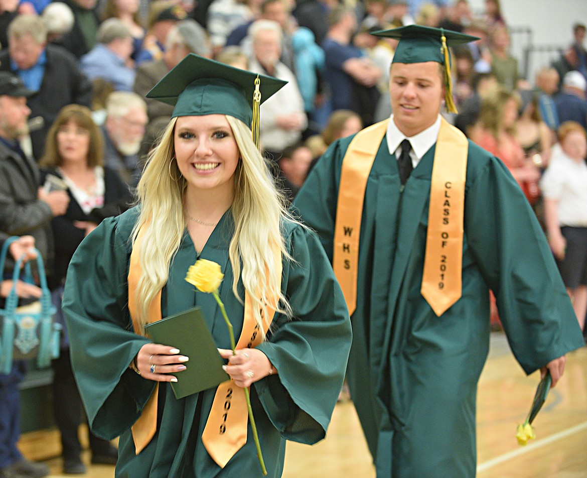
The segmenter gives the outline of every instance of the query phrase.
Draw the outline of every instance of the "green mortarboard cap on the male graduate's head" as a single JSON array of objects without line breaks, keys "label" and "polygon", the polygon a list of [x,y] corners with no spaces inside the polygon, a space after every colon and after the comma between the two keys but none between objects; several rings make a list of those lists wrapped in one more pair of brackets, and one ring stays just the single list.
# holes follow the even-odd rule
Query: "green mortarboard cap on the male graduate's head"
[{"label": "green mortarboard cap on the male graduate's head", "polygon": [[441,49],[443,35],[449,47],[479,39],[477,36],[423,25],[400,26],[400,28],[373,32],[372,35],[399,40],[393,54],[393,63],[438,62],[441,65],[444,65],[444,53]]}]

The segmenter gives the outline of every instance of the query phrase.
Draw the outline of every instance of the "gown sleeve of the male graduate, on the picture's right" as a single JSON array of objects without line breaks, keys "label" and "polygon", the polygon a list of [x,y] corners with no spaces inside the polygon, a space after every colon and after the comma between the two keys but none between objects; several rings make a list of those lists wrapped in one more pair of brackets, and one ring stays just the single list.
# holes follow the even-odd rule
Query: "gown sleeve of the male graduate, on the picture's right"
[{"label": "gown sleeve of the male graduate, on the picture's right", "polygon": [[544,232],[520,191],[502,161],[488,160],[467,183],[464,228],[512,352],[529,374],[583,342]]}]

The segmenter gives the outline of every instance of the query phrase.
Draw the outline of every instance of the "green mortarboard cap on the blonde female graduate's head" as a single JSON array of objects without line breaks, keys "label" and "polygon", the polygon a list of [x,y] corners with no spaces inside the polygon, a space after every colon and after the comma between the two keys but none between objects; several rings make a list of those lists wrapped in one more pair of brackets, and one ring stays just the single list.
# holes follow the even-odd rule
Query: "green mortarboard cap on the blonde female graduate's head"
[{"label": "green mortarboard cap on the blonde female graduate's head", "polygon": [[230,115],[251,127],[257,77],[261,103],[287,83],[190,53],[146,96],[175,106],[172,117]]}]

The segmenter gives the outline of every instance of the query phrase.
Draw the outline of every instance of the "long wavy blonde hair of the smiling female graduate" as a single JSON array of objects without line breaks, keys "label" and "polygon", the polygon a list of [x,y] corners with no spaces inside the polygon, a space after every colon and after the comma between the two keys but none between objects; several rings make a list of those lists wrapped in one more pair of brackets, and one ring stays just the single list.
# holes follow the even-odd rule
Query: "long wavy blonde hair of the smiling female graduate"
[{"label": "long wavy blonde hair of the smiling female graduate", "polygon": [[[282,257],[292,259],[285,248],[281,221],[295,220],[286,210],[284,197],[276,189],[266,160],[252,141],[251,130],[241,120],[225,117],[242,157],[234,173],[235,193],[231,208],[234,234],[228,255],[234,276],[232,292],[242,303],[243,298],[239,297],[237,290],[238,282],[242,280],[251,297],[255,320],[262,325],[262,317],[268,314],[268,304],[278,312],[291,315],[289,302],[281,292],[281,275],[277,274],[281,264],[277,261]],[[141,241],[139,262],[142,271],[134,292],[139,304],[141,328],[147,323],[149,304],[167,282],[171,260],[185,230],[183,197],[187,181],[174,160],[175,124],[176,119],[172,119],[160,143],[150,153],[137,187],[140,215],[133,230],[133,247],[139,233],[149,238]],[[281,251],[281,255],[275,254],[275,248]]]}]

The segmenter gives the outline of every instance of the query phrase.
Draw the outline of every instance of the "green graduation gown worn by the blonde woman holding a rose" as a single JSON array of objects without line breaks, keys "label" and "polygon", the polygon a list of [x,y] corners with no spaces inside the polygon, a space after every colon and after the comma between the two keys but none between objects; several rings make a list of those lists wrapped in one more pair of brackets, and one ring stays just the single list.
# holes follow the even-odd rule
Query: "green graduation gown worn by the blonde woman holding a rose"
[{"label": "green graduation gown worn by the blonde woman holding a rose", "polygon": [[[215,389],[177,400],[171,387],[161,382],[157,433],[135,455],[130,427],[155,385],[128,368],[149,341],[134,334],[127,308],[129,238],[136,218],[137,210],[132,209],[104,220],[80,245],[68,270],[63,309],[70,331],[73,371],[90,427],[105,439],[120,435],[115,473],[120,478],[262,476],[250,425],[247,443],[224,469],[205,450],[201,435]],[[238,338],[244,307],[232,293],[228,260],[232,227],[227,211],[200,257],[221,265],[224,281],[220,297]],[[311,444],[325,436],[351,342],[342,291],[318,238],[293,223],[285,223],[283,229],[286,247],[295,261],[284,260],[282,288],[294,317],[276,314],[267,340],[258,348],[279,373],[251,387],[252,408],[270,477],[282,474],[285,439]],[[214,297],[194,291],[184,280],[196,259],[186,231],[171,262],[161,312],[166,317],[194,305],[201,307],[217,345],[230,349],[228,329]],[[186,365],[190,366],[189,362]]]}]

